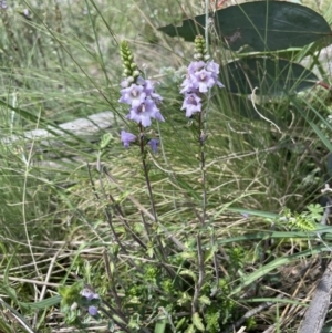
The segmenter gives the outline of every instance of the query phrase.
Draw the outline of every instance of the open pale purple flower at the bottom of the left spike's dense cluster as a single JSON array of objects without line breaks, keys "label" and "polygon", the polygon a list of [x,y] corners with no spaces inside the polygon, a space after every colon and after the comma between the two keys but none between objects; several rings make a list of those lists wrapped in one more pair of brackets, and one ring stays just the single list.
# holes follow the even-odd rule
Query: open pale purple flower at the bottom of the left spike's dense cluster
[{"label": "open pale purple flower at the bottom of the left spike's dense cluster", "polygon": [[131,113],[127,115],[127,118],[136,123],[141,123],[142,126],[147,127],[151,125],[151,118],[155,118],[160,122],[165,122],[162,116],[156,103],[151,97],[147,97],[141,105],[137,107],[132,107]]}]

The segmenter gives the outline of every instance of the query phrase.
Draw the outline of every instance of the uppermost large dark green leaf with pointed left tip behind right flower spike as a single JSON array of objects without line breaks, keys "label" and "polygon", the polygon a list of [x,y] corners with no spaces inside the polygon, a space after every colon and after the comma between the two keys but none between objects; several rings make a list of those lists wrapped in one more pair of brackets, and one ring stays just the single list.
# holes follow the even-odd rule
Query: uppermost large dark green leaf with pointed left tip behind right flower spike
[{"label": "uppermost large dark green leaf with pointed left tip behind right flower spike", "polygon": [[[253,51],[276,51],[301,48],[331,35],[329,23],[319,13],[298,3],[256,1],[231,6],[215,12],[211,29],[231,50],[249,46]],[[159,28],[170,37],[194,41],[204,35],[205,15]]]}]

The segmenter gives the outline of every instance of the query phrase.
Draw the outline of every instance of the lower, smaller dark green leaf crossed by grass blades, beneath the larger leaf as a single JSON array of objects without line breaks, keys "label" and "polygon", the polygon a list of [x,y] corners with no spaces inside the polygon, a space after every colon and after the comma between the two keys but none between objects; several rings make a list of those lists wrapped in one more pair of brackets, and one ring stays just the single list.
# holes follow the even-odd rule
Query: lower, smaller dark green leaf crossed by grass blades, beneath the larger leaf
[{"label": "lower, smaller dark green leaf crossed by grass blades, beneath the larger leaf", "polygon": [[225,83],[231,93],[288,95],[312,87],[319,79],[302,65],[288,60],[264,56],[248,56],[226,65],[228,82]]}]

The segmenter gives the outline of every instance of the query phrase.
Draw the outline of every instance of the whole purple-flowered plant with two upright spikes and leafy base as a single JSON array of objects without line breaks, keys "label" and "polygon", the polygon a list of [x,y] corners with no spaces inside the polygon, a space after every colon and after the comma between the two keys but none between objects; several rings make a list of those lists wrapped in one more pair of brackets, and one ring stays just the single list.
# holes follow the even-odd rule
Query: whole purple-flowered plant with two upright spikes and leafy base
[{"label": "whole purple-flowered plant with two upright spikes and leafy base", "polygon": [[[198,35],[196,38],[195,46],[195,61],[190,62],[190,64],[188,65],[186,76],[184,77],[184,81],[180,84],[179,89],[180,94],[183,94],[184,96],[180,110],[185,110],[186,117],[196,118],[198,124],[196,145],[199,147],[200,150],[199,163],[201,169],[201,177],[204,179],[203,183],[205,184],[207,178],[205,170],[205,142],[207,138],[207,131],[205,127],[204,117],[208,112],[208,107],[206,107],[205,105],[208,105],[210,101],[211,89],[214,89],[215,86],[224,87],[224,85],[219,82],[218,79],[219,65],[209,59],[203,37]],[[135,261],[131,261],[132,267],[136,270],[137,273],[142,274],[144,278],[143,281],[133,281],[133,285],[125,291],[126,293],[124,299],[121,299],[118,296],[117,291],[114,288],[112,289],[112,294],[114,296],[114,302],[116,303],[117,309],[115,309],[113,304],[106,302],[103,298],[100,298],[97,293],[86,288],[82,288],[80,290],[80,294],[76,298],[76,302],[74,304],[79,304],[81,308],[85,309],[89,315],[93,319],[98,319],[105,315],[110,319],[110,322],[122,327],[125,332],[136,332],[137,330],[141,330],[141,326],[143,324],[138,315],[141,308],[137,305],[142,302],[142,299],[151,300],[157,298],[157,302],[163,304],[163,306],[159,308],[160,311],[164,313],[164,315],[167,315],[170,319],[170,314],[168,314],[168,310],[166,308],[170,309],[173,305],[166,304],[165,301],[163,301],[163,299],[167,301],[167,298],[169,295],[172,298],[176,296],[178,298],[179,305],[181,305],[181,302],[185,302],[180,300],[180,298],[183,296],[181,288],[184,287],[184,290],[187,290],[189,288],[189,290],[193,291],[191,325],[201,327],[203,324],[200,323],[201,319],[199,316],[201,308],[200,298],[206,296],[207,293],[203,285],[204,277],[201,275],[201,282],[195,283],[194,287],[189,287],[189,284],[187,283],[180,287],[181,283],[176,282],[177,287],[175,288],[173,285],[173,283],[175,282],[172,282],[176,281],[177,275],[176,271],[174,270],[174,264],[178,263],[174,261],[174,259],[169,258],[169,248],[167,244],[167,240],[158,231],[165,229],[163,229],[163,225],[160,223],[160,219],[157,214],[155,196],[151,183],[151,166],[148,165],[146,153],[147,148],[151,149],[153,153],[157,153],[157,149],[160,144],[160,141],[158,138],[160,134],[156,134],[154,131],[147,131],[147,127],[152,127],[154,121],[165,122],[165,118],[159,110],[164,98],[155,91],[155,82],[153,82],[149,79],[145,79],[143,73],[138,70],[136,63],[134,62],[133,54],[126,42],[122,42],[121,44],[121,54],[123,60],[125,79],[121,83],[121,96],[118,98],[118,102],[128,106],[126,119],[135,124],[135,127],[133,126],[133,129],[136,128],[136,133],[133,133],[133,129],[131,129],[131,132],[122,129],[121,142],[124,148],[126,149],[128,149],[131,145],[136,145],[139,147],[142,169],[146,180],[146,187],[151,200],[152,211],[152,214],[149,215],[152,221],[146,221],[145,217],[142,215],[142,221],[148,241],[145,242],[141,238],[136,237],[136,235],[133,233],[121,210],[117,210],[117,212],[122,216],[122,219],[125,222],[127,230],[129,230],[129,232],[133,233],[135,241],[141,244],[144,251],[147,253],[148,258],[156,262],[156,266],[145,264],[141,268]],[[103,149],[105,149],[105,147],[107,146],[107,139],[103,141],[101,146]],[[201,214],[199,214],[201,228],[205,228],[207,220],[206,192],[207,189],[204,187],[204,200],[201,205],[203,209]],[[107,212],[106,216],[108,217],[110,214]],[[112,223],[112,218],[110,218],[111,228],[113,228]],[[115,231],[113,233],[116,235]],[[186,247],[173,236],[170,236],[170,239],[174,241],[174,243],[177,244],[177,247],[181,248],[183,250],[186,249]],[[201,253],[204,253],[204,249],[201,243],[201,237],[199,233],[196,237],[196,250],[199,253],[199,266],[204,268],[205,263],[201,261]],[[122,242],[120,240],[117,240],[116,243],[120,247],[122,247]],[[122,247],[122,251],[126,251],[124,247]],[[212,254],[212,257],[215,262],[217,262],[216,254]],[[112,275],[112,279],[116,280],[114,275]],[[217,280],[216,283],[218,284],[219,281]],[[179,288],[180,291],[177,291],[177,288]],[[210,288],[209,293],[216,294],[217,289],[218,285],[215,285],[214,289]],[[154,290],[157,290],[157,293]],[[160,293],[160,298],[158,296],[158,293]],[[228,303],[226,302],[225,304]],[[166,308],[164,308],[164,305]],[[128,306],[137,309],[137,313],[133,313],[129,319],[126,316],[125,313]],[[227,306],[230,305],[228,304]],[[215,310],[212,308],[208,308],[206,318],[208,319],[207,329],[209,329],[211,332],[215,332],[214,330],[216,330],[219,325],[219,315],[216,316]],[[190,327],[190,324],[188,325],[188,327]]]}]

